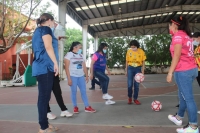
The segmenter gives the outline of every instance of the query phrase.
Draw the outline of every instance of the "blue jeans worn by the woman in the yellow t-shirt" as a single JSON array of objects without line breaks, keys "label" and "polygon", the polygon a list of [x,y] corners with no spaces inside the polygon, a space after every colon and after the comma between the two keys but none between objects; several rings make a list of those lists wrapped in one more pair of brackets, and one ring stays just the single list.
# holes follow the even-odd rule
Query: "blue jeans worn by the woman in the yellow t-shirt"
[{"label": "blue jeans worn by the woman in the yellow t-shirt", "polygon": [[[132,67],[128,66],[128,97],[134,98],[136,100],[138,98],[139,93],[139,83],[135,81],[134,77],[137,73],[141,73],[142,67]],[[133,83],[134,83],[134,96],[133,96]]]}]

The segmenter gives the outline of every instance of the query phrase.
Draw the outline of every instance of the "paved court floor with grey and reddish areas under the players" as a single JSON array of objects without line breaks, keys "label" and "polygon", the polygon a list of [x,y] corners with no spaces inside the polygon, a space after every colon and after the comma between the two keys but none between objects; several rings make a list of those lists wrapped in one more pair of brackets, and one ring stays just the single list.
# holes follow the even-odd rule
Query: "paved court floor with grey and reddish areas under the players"
[{"label": "paved court floor with grey and reddish areas under the players", "polygon": [[[165,81],[165,74],[146,75],[140,85],[139,100],[142,105],[127,104],[127,78],[124,75],[110,76],[109,94],[114,96],[115,105],[105,105],[102,92],[87,90],[89,102],[97,113],[85,113],[80,93],[77,94],[80,113],[72,118],[61,118],[60,109],[52,95],[50,106],[58,117],[50,120],[60,130],[57,133],[174,133],[177,126],[167,119],[175,113],[178,103],[177,87]],[[70,88],[67,81],[61,81],[63,98],[69,111],[73,111]],[[87,88],[90,83],[87,84]],[[200,88],[194,82],[194,93],[200,110]],[[0,87],[0,133],[37,133],[37,86]],[[151,102],[159,100],[163,104],[160,112],[151,110]],[[187,114],[186,114],[187,115]],[[185,117],[183,124],[187,124]],[[125,126],[125,127],[124,127]]]}]

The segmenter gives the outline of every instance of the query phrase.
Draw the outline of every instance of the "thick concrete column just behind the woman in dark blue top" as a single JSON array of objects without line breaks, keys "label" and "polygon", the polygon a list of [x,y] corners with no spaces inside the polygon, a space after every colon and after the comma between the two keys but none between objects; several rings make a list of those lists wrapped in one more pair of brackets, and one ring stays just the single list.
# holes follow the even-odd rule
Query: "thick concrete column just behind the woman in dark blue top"
[{"label": "thick concrete column just behind the woman in dark blue top", "polygon": [[[65,29],[66,24],[66,2],[59,2],[58,3],[58,21]],[[58,41],[59,44],[59,76],[63,79],[63,62],[64,62],[64,39]]]}]

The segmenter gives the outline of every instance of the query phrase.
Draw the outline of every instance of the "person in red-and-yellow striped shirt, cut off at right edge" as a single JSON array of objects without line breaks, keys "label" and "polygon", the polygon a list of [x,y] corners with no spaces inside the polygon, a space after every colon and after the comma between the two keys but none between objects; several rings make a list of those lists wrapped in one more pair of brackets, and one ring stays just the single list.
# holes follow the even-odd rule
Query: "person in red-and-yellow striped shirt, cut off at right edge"
[{"label": "person in red-and-yellow striped shirt, cut off at right edge", "polygon": [[[193,38],[193,45],[196,46],[195,50],[194,50],[194,57],[198,66],[198,76],[197,76],[197,82],[200,86],[200,32],[195,32],[192,35]],[[198,114],[200,114],[200,111],[197,112]]]}]

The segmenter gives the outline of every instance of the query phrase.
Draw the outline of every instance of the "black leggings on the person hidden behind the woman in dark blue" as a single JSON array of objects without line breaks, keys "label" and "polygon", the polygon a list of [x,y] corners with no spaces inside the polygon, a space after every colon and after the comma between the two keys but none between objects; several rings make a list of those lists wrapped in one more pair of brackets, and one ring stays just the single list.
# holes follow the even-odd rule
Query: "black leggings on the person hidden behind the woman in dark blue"
[{"label": "black leggings on the person hidden behind the woman in dark blue", "polygon": [[[52,88],[52,91],[53,91],[53,94],[56,98],[56,101],[60,107],[60,109],[62,111],[65,111],[67,110],[67,107],[65,106],[64,102],[63,102],[63,98],[62,98],[62,91],[61,91],[61,88],[60,88],[60,79],[59,79],[59,76],[56,76],[54,77],[54,81],[53,81],[53,88]],[[51,108],[48,104],[48,108],[47,108],[47,112],[51,112]]]}]

